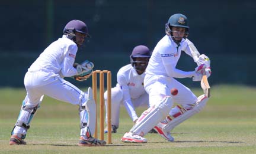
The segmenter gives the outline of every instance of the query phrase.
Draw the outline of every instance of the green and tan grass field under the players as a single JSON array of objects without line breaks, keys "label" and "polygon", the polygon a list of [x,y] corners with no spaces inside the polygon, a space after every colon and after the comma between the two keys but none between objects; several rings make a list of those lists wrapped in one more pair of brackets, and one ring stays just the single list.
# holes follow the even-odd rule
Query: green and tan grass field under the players
[{"label": "green and tan grass field under the players", "polygon": [[[197,96],[200,89],[193,90]],[[256,88],[213,86],[204,110],[172,130],[175,142],[157,134],[145,137],[148,143],[120,142],[133,125],[121,107],[120,127],[111,145],[79,147],[78,106],[44,97],[25,146],[9,146],[9,136],[17,120],[24,89],[0,89],[0,153],[255,153]],[[145,107],[137,109],[142,113]],[[105,135],[105,137],[107,137]],[[105,138],[106,139],[106,138]]]}]

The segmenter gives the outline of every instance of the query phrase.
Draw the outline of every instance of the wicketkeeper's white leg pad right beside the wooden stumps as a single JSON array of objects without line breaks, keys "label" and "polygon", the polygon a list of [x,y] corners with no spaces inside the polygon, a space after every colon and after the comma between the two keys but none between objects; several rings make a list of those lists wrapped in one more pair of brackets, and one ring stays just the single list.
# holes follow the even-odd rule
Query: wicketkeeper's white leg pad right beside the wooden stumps
[{"label": "wicketkeeper's white leg pad right beside the wooden stumps", "polygon": [[[88,136],[88,133],[93,136],[96,124],[96,104],[92,96],[91,87],[88,88],[88,100],[80,107],[81,119],[81,136]],[[88,129],[89,127],[89,129]],[[88,132],[88,130],[90,132]]]}]

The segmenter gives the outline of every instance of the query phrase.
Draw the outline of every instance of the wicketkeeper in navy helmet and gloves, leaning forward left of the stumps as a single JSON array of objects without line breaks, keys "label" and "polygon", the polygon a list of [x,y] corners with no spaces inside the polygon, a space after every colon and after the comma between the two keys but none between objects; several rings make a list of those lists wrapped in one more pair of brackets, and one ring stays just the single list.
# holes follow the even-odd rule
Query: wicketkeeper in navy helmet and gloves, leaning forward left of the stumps
[{"label": "wicketkeeper in navy helmet and gloves, leaning forward left of the stumps", "polygon": [[25,145],[25,136],[30,128],[30,122],[40,107],[43,96],[79,105],[81,132],[79,146],[104,146],[104,140],[92,137],[95,130],[95,101],[91,88],[88,93],[64,80],[72,77],[78,81],[87,80],[92,74],[94,64],[85,61],[75,62],[78,47],[89,37],[87,25],[79,20],[66,24],[62,38],[47,47],[36,61],[28,68],[24,77],[27,96],[21,106],[17,123],[11,132],[9,145]]}]

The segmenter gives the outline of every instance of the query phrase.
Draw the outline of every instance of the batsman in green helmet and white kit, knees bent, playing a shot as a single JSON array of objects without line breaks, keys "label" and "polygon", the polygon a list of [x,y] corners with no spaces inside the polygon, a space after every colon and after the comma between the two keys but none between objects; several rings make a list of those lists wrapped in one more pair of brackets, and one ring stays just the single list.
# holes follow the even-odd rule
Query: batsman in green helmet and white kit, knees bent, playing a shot
[{"label": "batsman in green helmet and white kit, knees bent, playing a shot", "polygon": [[[193,78],[200,81],[203,72],[210,76],[210,60],[206,55],[197,51],[188,37],[187,17],[182,14],[172,15],[165,25],[165,35],[156,44],[146,68],[144,80],[145,90],[149,94],[149,109],[142,113],[135,126],[121,138],[123,142],[145,143],[143,137],[154,127],[164,139],[173,141],[170,131],[199,113],[208,98],[196,95],[174,78]],[[198,65],[194,71],[182,71],[176,68],[181,53],[190,55]],[[171,89],[178,90],[178,94],[171,95]],[[178,103],[171,109],[173,102]],[[171,112],[170,112],[171,110]]]}]

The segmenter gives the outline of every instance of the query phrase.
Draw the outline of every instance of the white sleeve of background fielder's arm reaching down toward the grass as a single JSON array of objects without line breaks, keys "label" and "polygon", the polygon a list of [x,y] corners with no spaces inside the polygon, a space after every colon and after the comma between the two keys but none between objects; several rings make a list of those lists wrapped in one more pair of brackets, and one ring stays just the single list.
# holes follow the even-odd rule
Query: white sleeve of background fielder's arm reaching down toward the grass
[{"label": "white sleeve of background fielder's arm reaching down toward the grass", "polygon": [[132,99],[130,97],[128,80],[126,79],[124,74],[121,74],[120,72],[117,73],[117,83],[121,86],[121,90],[123,91],[124,107],[126,107],[127,113],[134,122],[134,120],[137,119],[137,114],[135,111],[135,107],[133,106]]}]

